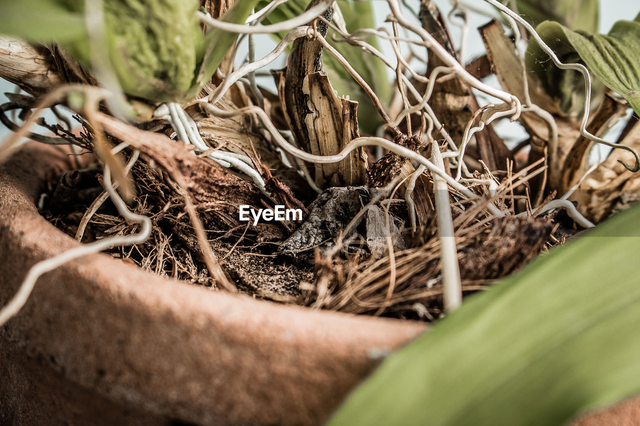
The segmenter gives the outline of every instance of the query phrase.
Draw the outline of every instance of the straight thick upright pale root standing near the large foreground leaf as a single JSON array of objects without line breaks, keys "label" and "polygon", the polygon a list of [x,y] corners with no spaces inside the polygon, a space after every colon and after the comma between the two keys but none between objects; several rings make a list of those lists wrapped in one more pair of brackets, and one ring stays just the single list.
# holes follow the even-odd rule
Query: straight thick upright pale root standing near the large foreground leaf
[{"label": "straight thick upright pale root standing near the large foreground leaf", "polygon": [[[440,146],[436,141],[431,143],[431,161],[444,170],[444,161],[440,154]],[[452,312],[462,304],[462,285],[460,283],[460,267],[458,266],[458,249],[453,230],[449,189],[447,182],[438,175],[433,175],[433,193],[436,201],[436,219],[440,236],[440,262],[442,264],[442,287],[444,289],[444,308]]]}]

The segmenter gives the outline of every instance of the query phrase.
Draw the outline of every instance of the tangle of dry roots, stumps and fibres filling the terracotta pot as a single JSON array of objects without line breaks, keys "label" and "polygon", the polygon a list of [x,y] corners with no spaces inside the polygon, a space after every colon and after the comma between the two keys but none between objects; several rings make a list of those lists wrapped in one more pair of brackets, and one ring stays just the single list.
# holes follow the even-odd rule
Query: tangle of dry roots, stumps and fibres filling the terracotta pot
[{"label": "tangle of dry roots, stumps and fibres filling the terracotta pot", "polygon": [[[201,3],[214,18],[231,4]],[[312,0],[308,8],[319,3]],[[131,195],[133,212],[152,222],[147,241],[109,251],[122,262],[280,303],[421,320],[444,313],[443,275],[449,283],[446,277],[459,272],[465,295],[481,291],[580,232],[571,219],[579,214],[576,208],[597,223],[640,198],[637,175],[618,162],[628,152],[614,150],[598,167],[589,166],[593,138],[580,129],[575,111],[564,111],[558,93],[548,93],[526,69],[513,42],[527,36],[522,28],[505,33],[495,20],[481,27],[486,54],[465,64],[433,1],[420,1],[413,18],[422,28],[416,31],[396,1],[388,4],[394,36],[372,28],[369,35],[391,43],[392,61],[380,54],[364,61],[367,69],[356,70],[333,47],[336,40],[356,47],[351,52],[358,55],[377,49],[367,44],[368,36],[347,33],[341,21],[332,20],[334,13],[347,16],[332,5],[305,26],[289,28],[289,35],[298,36],[290,40],[287,67],[271,70],[275,92],[257,85],[259,67],[247,68],[257,63],[255,52],[236,68],[232,46],[222,52],[225,59],[211,79],[196,87],[195,97],[159,103],[129,93],[127,101],[138,111],[134,123],[116,118],[91,70],[65,49],[13,40],[21,53],[3,57],[12,66],[0,71],[24,70],[8,77],[29,94],[9,94],[10,102],[0,106],[0,122],[17,131],[11,143],[0,146],[0,159],[20,136],[78,148],[77,170],[51,185],[38,207],[82,242],[131,235],[141,226],[124,220],[106,195],[108,163],[115,184]],[[431,48],[418,52],[418,45],[402,42],[399,26]],[[434,49],[436,43],[442,49]],[[410,53],[403,52],[408,47]],[[327,73],[331,67],[323,58],[329,54],[331,67],[339,65],[340,72]],[[415,59],[419,70],[412,68]],[[396,67],[394,82],[372,88],[375,82],[365,81],[360,74],[376,74],[376,61]],[[197,79],[204,78],[204,68]],[[491,74],[500,90],[476,79]],[[337,93],[333,85],[340,75],[348,77],[344,86],[353,93]],[[378,91],[388,86],[394,93],[381,99]],[[472,89],[502,104],[481,106]],[[74,101],[72,94],[84,100]],[[600,95],[586,105],[595,109],[586,129],[598,136],[628,106],[611,91]],[[58,106],[77,114],[82,129],[61,116]],[[58,123],[37,118],[42,109],[51,109]],[[518,120],[528,139],[509,146],[493,130],[497,117]],[[28,129],[31,124],[48,135]],[[639,148],[638,141],[634,115],[617,142]],[[439,191],[447,192],[452,217],[446,197],[435,203],[435,187],[443,185]],[[577,205],[563,201],[573,216],[562,209],[540,215],[548,201],[563,195]],[[241,205],[284,205],[300,209],[303,220],[253,225],[239,218]],[[438,220],[445,216],[452,235],[440,235],[445,226]],[[456,256],[459,271],[443,271],[442,258],[455,264],[449,260]]]}]

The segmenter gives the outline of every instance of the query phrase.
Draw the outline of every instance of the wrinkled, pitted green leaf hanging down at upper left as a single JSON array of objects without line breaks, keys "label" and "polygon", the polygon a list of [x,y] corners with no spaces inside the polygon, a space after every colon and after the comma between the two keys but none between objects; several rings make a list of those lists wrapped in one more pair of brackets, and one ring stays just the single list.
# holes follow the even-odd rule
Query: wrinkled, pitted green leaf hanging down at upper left
[{"label": "wrinkled, pitted green leaf hanging down at upper left", "polygon": [[[197,8],[194,0],[104,1],[106,47],[125,93],[163,102],[184,99],[203,37]],[[97,47],[91,46],[93,52]],[[99,58],[83,59],[99,67]]]}]

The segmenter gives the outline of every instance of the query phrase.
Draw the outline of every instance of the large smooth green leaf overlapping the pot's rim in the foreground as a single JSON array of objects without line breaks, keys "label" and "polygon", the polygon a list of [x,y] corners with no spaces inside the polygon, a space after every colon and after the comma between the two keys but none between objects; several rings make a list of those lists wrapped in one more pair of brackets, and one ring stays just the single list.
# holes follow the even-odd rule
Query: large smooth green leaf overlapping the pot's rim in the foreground
[{"label": "large smooth green leaf overlapping the pot's rim in the foreground", "polygon": [[621,212],[470,297],[328,424],[562,425],[640,392],[639,222]]}]

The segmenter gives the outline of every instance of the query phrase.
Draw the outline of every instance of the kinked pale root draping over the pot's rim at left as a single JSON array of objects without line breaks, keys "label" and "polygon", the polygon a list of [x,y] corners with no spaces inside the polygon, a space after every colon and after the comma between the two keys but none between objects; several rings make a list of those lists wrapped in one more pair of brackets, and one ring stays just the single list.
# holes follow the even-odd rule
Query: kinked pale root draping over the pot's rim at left
[{"label": "kinked pale root draping over the pot's rim at left", "polygon": [[118,212],[122,217],[124,217],[127,221],[140,223],[141,228],[140,232],[133,235],[115,235],[113,237],[108,237],[102,240],[90,242],[89,244],[83,244],[82,246],[78,246],[76,248],[69,249],[60,255],[54,256],[52,258],[42,260],[29,269],[26,278],[22,281],[20,288],[13,298],[3,306],[2,310],[0,310],[0,326],[3,326],[8,320],[10,320],[14,315],[20,312],[22,306],[29,299],[29,295],[35,286],[38,278],[44,274],[45,272],[52,271],[56,269],[65,262],[69,260],[73,260],[80,256],[90,255],[92,253],[98,253],[99,251],[113,248],[115,246],[130,246],[131,244],[140,244],[141,242],[145,242],[151,233],[151,221],[148,217],[141,216],[140,214],[135,214],[131,212],[127,208],[127,205],[122,201],[122,198],[116,193],[113,188],[113,184],[111,184],[111,173],[109,171],[109,167],[104,167],[104,189],[111,196],[111,201],[118,209]]}]

